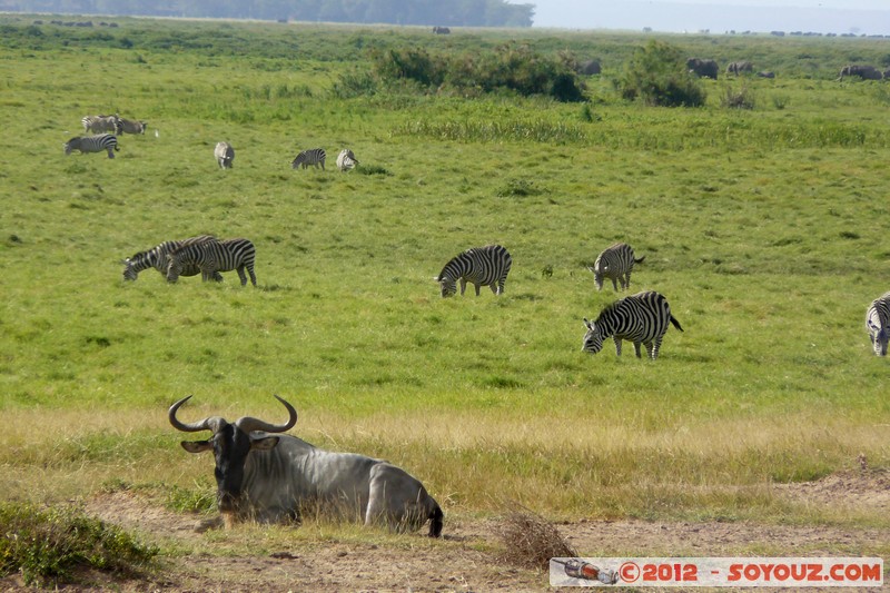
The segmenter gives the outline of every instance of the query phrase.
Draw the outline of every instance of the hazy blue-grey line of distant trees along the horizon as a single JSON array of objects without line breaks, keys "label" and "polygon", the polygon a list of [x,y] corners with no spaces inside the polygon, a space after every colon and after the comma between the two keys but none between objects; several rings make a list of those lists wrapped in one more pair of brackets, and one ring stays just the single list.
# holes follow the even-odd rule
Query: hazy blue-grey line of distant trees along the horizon
[{"label": "hazy blue-grey line of distant trees along the horizon", "polygon": [[4,10],[69,14],[531,27],[534,4],[505,0],[13,0]]}]

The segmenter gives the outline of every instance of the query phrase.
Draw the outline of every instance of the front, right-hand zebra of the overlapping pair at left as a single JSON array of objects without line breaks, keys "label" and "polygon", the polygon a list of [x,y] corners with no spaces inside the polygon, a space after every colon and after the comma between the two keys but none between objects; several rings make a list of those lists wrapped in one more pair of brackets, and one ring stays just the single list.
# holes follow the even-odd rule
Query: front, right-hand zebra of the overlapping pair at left
[{"label": "front, right-hand zebra of the overlapping pair at left", "polygon": [[254,274],[254,260],[256,259],[256,248],[248,239],[226,239],[222,241],[209,240],[184,245],[179,249],[167,254],[169,267],[167,268],[167,281],[175,283],[182,270],[189,265],[197,266],[201,270],[204,281],[218,278],[219,271],[237,270],[241,279],[241,286],[247,286],[247,276],[244,270],[247,268],[250,274],[250,281],[257,285],[257,277]]}]

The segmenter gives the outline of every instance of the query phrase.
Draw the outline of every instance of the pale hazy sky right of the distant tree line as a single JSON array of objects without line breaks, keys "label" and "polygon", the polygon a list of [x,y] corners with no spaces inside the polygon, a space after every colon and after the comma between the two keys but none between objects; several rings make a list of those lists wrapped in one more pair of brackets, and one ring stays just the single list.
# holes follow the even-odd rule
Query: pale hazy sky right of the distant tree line
[{"label": "pale hazy sky right of the distant tree line", "polygon": [[890,34],[890,0],[511,0],[534,27]]}]

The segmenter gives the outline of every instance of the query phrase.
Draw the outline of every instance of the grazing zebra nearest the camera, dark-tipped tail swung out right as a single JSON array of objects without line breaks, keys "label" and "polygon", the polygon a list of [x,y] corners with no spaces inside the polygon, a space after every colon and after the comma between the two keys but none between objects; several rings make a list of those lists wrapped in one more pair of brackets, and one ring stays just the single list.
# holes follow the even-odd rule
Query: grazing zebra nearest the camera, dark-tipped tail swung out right
[{"label": "grazing zebra nearest the camera, dark-tipped tail swung out right", "polygon": [[654,290],[645,290],[626,296],[607,305],[595,322],[584,319],[587,333],[584,335],[582,352],[596,354],[603,349],[603,339],[612,336],[615,340],[615,352],[621,356],[621,340],[630,339],[640,358],[640,344],[645,345],[649,357],[653,360],[659,357],[659,348],[664,334],[668,332],[668,322],[674,327],[680,327],[673,315],[671,306],[663,295]]}]

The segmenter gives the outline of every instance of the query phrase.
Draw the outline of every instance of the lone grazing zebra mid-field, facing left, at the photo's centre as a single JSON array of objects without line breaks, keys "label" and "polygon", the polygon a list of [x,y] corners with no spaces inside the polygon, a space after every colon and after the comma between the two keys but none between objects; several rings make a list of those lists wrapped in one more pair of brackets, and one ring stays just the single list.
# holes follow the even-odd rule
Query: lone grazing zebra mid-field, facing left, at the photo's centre
[{"label": "lone grazing zebra mid-field, facing left, at the photo's centre", "polygon": [[474,247],[445,264],[435,279],[442,285],[443,298],[457,293],[458,279],[461,295],[464,294],[467,281],[476,287],[476,296],[479,296],[481,286],[488,286],[495,295],[503,295],[504,283],[512,265],[513,258],[500,245]]}]

